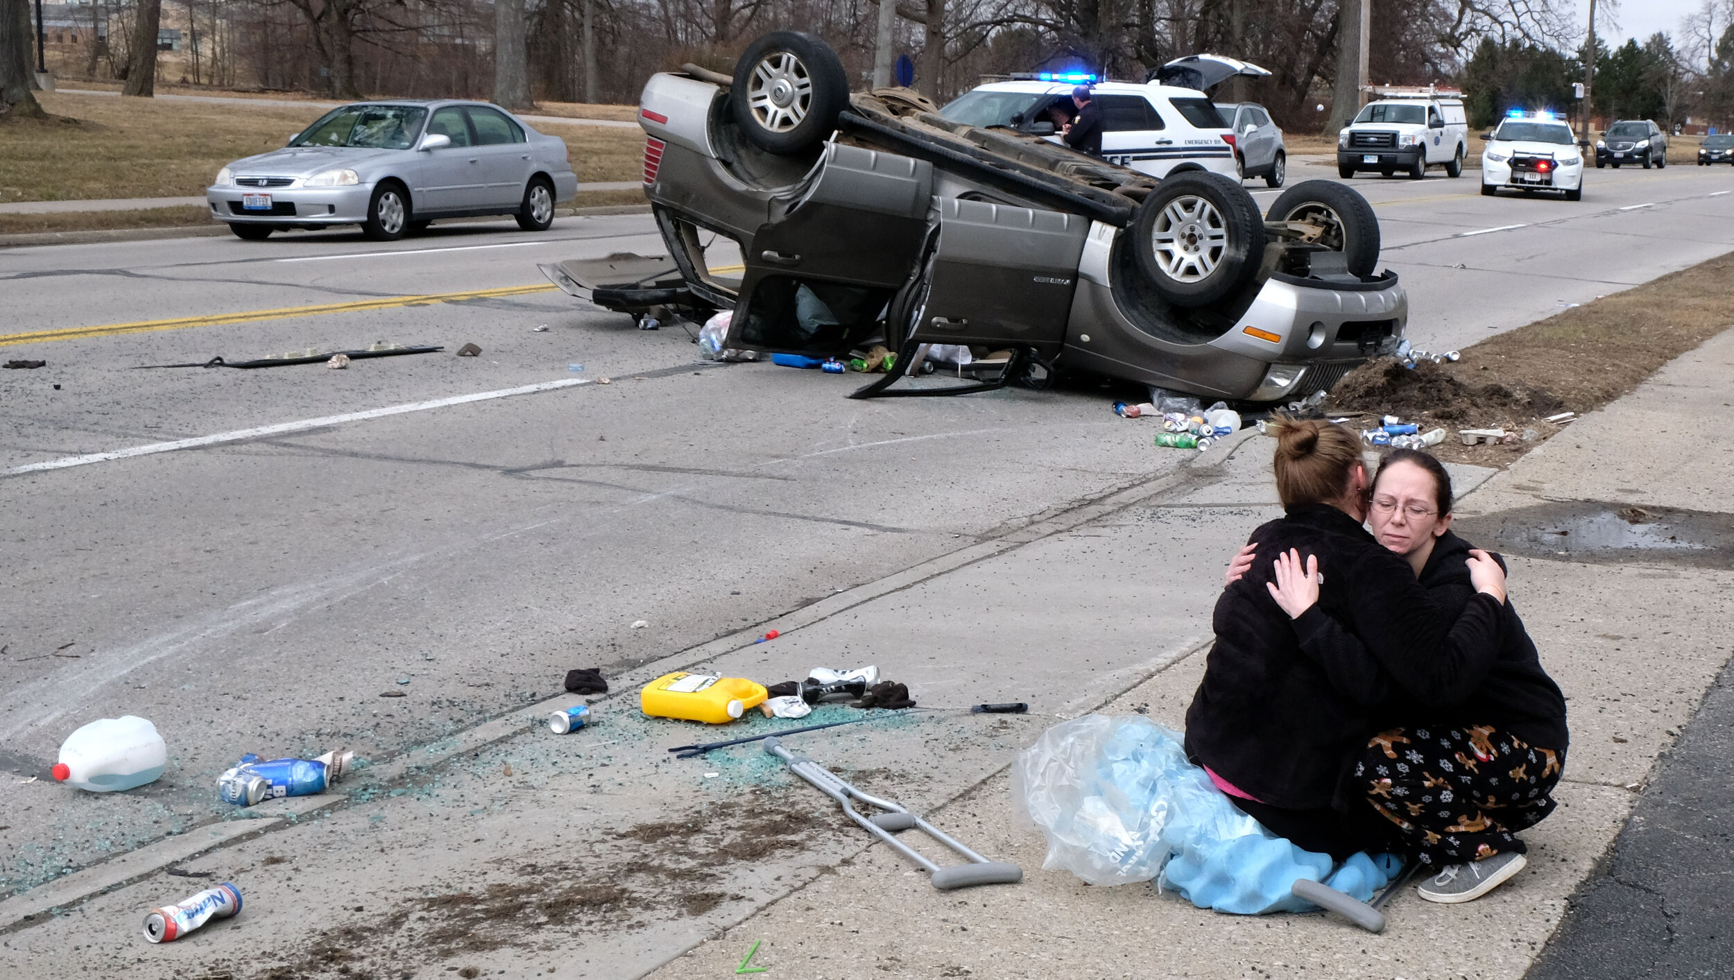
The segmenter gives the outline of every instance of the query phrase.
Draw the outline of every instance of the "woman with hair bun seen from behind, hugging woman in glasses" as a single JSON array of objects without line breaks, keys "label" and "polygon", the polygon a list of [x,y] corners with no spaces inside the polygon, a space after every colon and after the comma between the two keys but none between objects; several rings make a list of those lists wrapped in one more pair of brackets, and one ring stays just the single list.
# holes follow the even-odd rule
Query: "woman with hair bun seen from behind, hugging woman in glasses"
[{"label": "woman with hair bun seen from behind, hugging woman in glasses", "polygon": [[1359,437],[1323,420],[1274,428],[1285,513],[1252,532],[1255,560],[1216,604],[1216,644],[1186,711],[1186,753],[1242,810],[1306,850],[1339,860],[1406,850],[1398,827],[1359,801],[1351,774],[1377,730],[1375,709],[1300,647],[1278,605],[1274,559],[1285,555],[1294,578],[1318,588],[1320,612],[1408,692],[1486,675],[1502,642],[1505,571],[1470,550],[1474,595],[1462,611],[1448,609],[1361,527],[1370,480]]}]

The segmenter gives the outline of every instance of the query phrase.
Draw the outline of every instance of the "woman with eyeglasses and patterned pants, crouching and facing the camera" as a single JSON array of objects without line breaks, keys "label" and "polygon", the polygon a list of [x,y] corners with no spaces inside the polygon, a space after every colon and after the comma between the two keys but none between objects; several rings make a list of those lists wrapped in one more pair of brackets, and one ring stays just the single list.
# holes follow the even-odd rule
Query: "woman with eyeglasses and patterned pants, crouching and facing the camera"
[{"label": "woman with eyeglasses and patterned pants, crouching and facing the camera", "polygon": [[[1448,614],[1467,607],[1476,595],[1470,546],[1451,532],[1451,477],[1436,458],[1413,449],[1385,456],[1368,526]],[[1231,579],[1248,555],[1229,565]],[[1514,834],[1554,810],[1568,732],[1566,699],[1510,602],[1502,604],[1498,652],[1486,671],[1415,697],[1320,607],[1314,562],[1302,567],[1299,553],[1283,553],[1273,579],[1268,591],[1294,617],[1300,649],[1373,711],[1379,734],[1354,761],[1351,786],[1429,871],[1420,897],[1469,902],[1522,871],[1526,848]],[[1441,709],[1441,701],[1450,706]]]}]

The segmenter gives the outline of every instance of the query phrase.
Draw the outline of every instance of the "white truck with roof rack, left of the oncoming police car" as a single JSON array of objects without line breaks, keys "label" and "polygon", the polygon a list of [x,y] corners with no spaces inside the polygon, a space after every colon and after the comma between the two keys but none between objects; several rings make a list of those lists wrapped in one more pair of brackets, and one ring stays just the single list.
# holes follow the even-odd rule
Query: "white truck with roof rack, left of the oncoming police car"
[{"label": "white truck with roof rack, left of the oncoming police car", "polygon": [[1462,99],[1380,99],[1361,108],[1349,128],[1337,134],[1337,173],[1347,180],[1358,170],[1391,177],[1403,170],[1413,180],[1429,167],[1462,177],[1469,156],[1469,121]]}]

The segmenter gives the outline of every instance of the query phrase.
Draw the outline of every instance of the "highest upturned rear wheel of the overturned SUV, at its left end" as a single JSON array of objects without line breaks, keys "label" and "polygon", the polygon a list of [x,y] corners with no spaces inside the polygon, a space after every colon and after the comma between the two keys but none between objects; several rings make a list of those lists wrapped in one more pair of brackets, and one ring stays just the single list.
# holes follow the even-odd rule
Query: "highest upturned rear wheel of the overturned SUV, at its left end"
[{"label": "highest upturned rear wheel of the overturned SUV, at its left end", "polygon": [[730,102],[753,146],[794,156],[838,127],[850,102],[850,76],[825,42],[801,31],[772,31],[735,62]]}]

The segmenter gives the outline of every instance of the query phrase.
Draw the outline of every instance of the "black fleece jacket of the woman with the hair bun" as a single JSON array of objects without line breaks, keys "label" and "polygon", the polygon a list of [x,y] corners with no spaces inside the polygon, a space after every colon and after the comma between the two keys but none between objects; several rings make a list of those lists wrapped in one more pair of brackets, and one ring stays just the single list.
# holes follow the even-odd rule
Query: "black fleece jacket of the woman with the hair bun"
[{"label": "black fleece jacket of the woman with the hair bun", "polygon": [[1408,562],[1328,505],[1290,508],[1250,543],[1259,545],[1252,569],[1216,604],[1216,645],[1186,711],[1186,753],[1273,807],[1346,807],[1339,782],[1377,730],[1373,709],[1302,652],[1294,621],[1264,588],[1276,555],[1318,557],[1321,612],[1359,637],[1405,690],[1486,675],[1500,649],[1500,604],[1477,593],[1460,614],[1443,609]]}]

